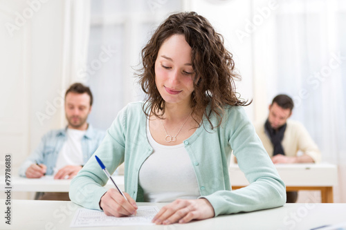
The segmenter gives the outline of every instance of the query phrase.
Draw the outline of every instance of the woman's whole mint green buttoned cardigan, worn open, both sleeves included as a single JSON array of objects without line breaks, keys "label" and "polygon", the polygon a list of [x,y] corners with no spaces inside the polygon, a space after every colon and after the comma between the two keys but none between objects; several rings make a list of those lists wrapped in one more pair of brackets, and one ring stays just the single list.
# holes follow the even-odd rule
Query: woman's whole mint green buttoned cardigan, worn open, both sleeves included
[{"label": "woman's whole mint green buttoned cardigan, worn open, both sleeves included", "polygon": [[[144,201],[143,189],[138,185],[140,166],[153,151],[147,140],[142,106],[143,102],[134,102],[123,108],[94,153],[110,173],[125,162],[125,191],[136,202]],[[217,124],[217,117],[212,116],[211,122]],[[215,216],[280,207],[286,202],[284,182],[241,106],[225,107],[223,122],[214,130],[204,120],[183,143],[196,173],[200,198],[208,199]],[[231,190],[228,174],[232,152],[251,183],[235,191]],[[71,200],[88,209],[100,209],[107,180],[92,156],[71,182]]]}]

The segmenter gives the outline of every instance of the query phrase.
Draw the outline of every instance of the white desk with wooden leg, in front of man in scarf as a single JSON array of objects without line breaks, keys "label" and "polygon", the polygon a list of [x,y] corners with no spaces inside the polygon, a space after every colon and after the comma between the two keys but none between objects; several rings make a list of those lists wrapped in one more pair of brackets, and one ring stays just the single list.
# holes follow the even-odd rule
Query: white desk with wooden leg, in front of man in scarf
[{"label": "white desk with wooden leg, in front of man in scarf", "polygon": [[[319,190],[322,203],[333,202],[333,186],[338,184],[336,165],[328,163],[275,164],[275,167],[286,184],[286,191]],[[249,184],[237,164],[230,164],[229,173],[232,189],[240,189]]]}]

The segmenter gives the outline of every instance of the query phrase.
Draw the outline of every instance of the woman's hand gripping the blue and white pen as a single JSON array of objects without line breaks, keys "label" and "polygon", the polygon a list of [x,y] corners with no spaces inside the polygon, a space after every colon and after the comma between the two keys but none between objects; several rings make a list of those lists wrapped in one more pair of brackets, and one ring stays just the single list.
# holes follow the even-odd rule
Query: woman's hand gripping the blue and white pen
[{"label": "woman's hand gripping the blue and white pen", "polygon": [[123,192],[127,200],[118,192],[117,189],[109,189],[107,193],[102,195],[100,207],[106,215],[116,217],[136,215],[137,204],[128,193]]}]

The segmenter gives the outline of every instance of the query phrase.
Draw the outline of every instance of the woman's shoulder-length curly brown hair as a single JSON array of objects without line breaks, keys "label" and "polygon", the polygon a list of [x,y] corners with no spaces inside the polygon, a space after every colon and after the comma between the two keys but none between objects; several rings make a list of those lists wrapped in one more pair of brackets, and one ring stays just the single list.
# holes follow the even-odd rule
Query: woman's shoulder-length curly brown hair
[{"label": "woman's shoulder-length curly brown hair", "polygon": [[[212,113],[222,122],[223,108],[247,106],[247,101],[239,99],[235,91],[234,79],[240,79],[234,71],[233,55],[224,47],[224,38],[215,32],[210,22],[196,12],[179,12],[170,15],[154,32],[142,50],[143,68],[138,73],[139,83],[146,94],[143,112],[147,117],[158,111],[165,113],[165,101],[155,84],[155,61],[163,42],[172,35],[184,35],[192,48],[192,68],[194,70],[194,92],[192,92],[192,115],[201,114],[210,122]],[[206,107],[210,104],[210,113]],[[199,123],[199,122],[197,122]]]}]

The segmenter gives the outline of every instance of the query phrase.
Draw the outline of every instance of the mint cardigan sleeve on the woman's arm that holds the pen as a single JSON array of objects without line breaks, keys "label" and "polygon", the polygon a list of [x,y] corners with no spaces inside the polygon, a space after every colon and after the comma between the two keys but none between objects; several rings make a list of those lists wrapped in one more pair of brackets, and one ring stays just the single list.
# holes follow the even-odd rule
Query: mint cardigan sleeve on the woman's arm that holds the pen
[{"label": "mint cardigan sleeve on the woman's arm that holds the pen", "polygon": [[100,199],[107,192],[103,186],[108,178],[95,160],[95,155],[111,174],[124,162],[126,113],[127,107],[118,113],[98,149],[71,181],[69,196],[76,204],[88,209],[100,209]]}]

